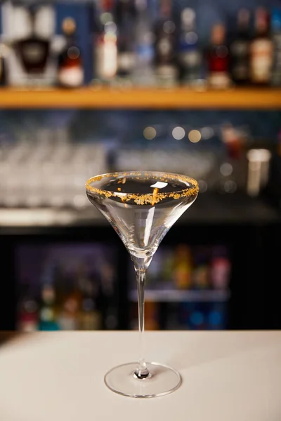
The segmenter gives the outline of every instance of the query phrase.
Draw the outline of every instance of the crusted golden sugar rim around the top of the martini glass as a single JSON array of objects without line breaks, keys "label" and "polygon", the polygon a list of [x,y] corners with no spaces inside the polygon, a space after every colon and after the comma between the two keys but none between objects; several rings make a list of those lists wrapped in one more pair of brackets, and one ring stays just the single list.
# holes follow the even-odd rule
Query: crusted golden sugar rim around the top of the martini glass
[{"label": "crusted golden sugar rim around the top of the martini glass", "polygon": [[[186,189],[182,189],[178,192],[166,192],[162,193],[159,192],[159,189],[155,188],[154,192],[152,193],[122,193],[122,192],[110,192],[108,190],[98,189],[96,187],[91,186],[91,182],[100,181],[105,177],[120,177],[119,183],[124,184],[126,182],[126,177],[129,177],[130,175],[135,175],[136,180],[138,180],[139,177],[147,177],[147,178],[155,178],[157,181],[163,181],[166,182],[167,178],[174,179],[176,181],[182,181],[182,182],[189,182],[192,187],[187,187]],[[122,178],[121,178],[122,177]],[[125,181],[124,181],[125,180]],[[155,205],[156,203],[159,203],[159,201],[162,201],[163,199],[181,199],[183,197],[187,196],[194,196],[195,194],[198,194],[199,187],[198,183],[194,178],[188,177],[187,175],[181,175],[181,174],[174,174],[174,173],[157,173],[150,172],[150,171],[131,171],[131,172],[120,172],[120,173],[107,173],[102,175],[96,175],[95,177],[89,178],[89,180],[86,182],[86,189],[89,192],[100,194],[105,196],[106,198],[110,197],[118,197],[124,202],[133,200],[137,205]]]}]

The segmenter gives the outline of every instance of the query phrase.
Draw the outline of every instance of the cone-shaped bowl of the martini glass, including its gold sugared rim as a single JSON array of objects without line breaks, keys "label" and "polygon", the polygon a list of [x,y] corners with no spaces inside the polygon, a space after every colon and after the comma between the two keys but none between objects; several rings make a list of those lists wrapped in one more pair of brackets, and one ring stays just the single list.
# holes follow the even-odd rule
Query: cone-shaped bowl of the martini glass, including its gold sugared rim
[{"label": "cone-shaped bowl of the martini glass, including its gold sugared rim", "polygon": [[86,192],[129,253],[149,261],[166,232],[195,201],[198,187],[183,175],[116,173],[92,178]]}]

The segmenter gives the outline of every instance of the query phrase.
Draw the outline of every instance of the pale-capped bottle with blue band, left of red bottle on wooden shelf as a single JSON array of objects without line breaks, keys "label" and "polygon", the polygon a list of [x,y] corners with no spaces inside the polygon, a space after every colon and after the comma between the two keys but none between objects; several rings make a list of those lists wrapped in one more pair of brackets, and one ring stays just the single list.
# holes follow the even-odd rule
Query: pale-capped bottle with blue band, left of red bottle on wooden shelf
[{"label": "pale-capped bottle with blue band, left of red bottle on wooden shelf", "polygon": [[183,85],[194,85],[200,80],[202,57],[195,32],[196,14],[192,8],[181,13],[181,31],[178,40],[178,65]]}]

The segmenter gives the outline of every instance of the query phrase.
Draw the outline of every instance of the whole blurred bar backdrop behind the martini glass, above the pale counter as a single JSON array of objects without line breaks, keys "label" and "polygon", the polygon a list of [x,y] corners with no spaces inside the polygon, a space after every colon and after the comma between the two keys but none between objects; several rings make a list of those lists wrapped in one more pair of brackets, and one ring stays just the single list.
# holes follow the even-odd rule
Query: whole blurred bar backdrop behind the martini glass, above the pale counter
[{"label": "whole blurred bar backdrop behind the martini glass, above the pale counter", "polygon": [[137,328],[92,175],[196,178],[152,260],[146,328],[279,329],[277,0],[3,1],[0,330]]}]

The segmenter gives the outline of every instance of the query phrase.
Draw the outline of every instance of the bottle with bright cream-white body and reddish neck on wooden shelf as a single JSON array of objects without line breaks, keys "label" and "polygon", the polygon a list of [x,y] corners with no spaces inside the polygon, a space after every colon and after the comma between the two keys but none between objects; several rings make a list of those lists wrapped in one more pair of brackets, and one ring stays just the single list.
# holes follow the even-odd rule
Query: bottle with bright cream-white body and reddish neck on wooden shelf
[{"label": "bottle with bright cream-white body and reddish neck on wooden shelf", "polygon": [[94,42],[94,73],[103,83],[112,82],[117,74],[117,25],[112,7],[112,0],[101,0],[100,29]]}]

